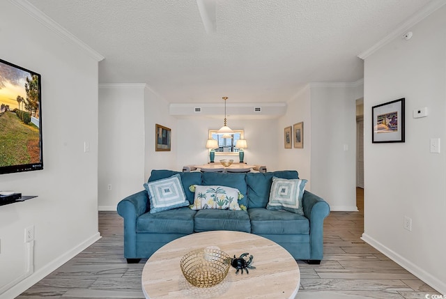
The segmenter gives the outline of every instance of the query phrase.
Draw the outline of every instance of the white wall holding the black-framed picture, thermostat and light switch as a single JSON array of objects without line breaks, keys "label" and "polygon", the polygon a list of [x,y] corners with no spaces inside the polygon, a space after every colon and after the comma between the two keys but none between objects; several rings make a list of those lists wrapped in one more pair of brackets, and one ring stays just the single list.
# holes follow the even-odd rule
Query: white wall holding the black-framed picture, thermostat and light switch
[{"label": "white wall holding the black-framed picture, thermostat and light switch", "polygon": [[[365,59],[364,240],[446,293],[446,6]],[[406,98],[406,142],[371,144],[371,107]],[[413,118],[428,107],[429,116]],[[412,231],[403,217],[412,218]]]}]

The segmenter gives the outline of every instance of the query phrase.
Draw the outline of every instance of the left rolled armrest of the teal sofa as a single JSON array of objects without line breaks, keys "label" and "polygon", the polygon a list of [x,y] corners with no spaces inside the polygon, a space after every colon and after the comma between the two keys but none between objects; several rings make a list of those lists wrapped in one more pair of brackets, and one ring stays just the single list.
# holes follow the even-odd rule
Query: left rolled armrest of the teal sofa
[{"label": "left rolled armrest of the teal sofa", "polygon": [[124,218],[124,257],[127,259],[137,256],[137,218],[148,212],[148,195],[145,190],[125,197],[118,203],[118,214]]}]

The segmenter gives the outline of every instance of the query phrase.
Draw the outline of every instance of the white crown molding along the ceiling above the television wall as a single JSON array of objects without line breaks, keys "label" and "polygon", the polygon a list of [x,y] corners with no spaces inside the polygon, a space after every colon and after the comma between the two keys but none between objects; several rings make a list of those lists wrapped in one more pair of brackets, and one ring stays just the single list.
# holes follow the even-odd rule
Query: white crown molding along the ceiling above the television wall
[{"label": "white crown molding along the ceiling above the television wall", "polygon": [[57,35],[79,46],[81,49],[84,49],[84,51],[87,52],[93,59],[95,59],[95,61],[102,61],[103,59],[105,59],[104,56],[96,52],[89,45],[86,45],[86,43],[84,43],[82,40],[79,40],[79,38],[70,33],[70,31],[68,31],[61,25],[54,22],[54,20],[45,15],[45,13],[42,13],[40,10],[36,8],[36,6],[33,6],[28,1],[26,0],[9,0],[9,1],[10,3],[13,3],[15,6],[23,10],[25,13],[31,15],[31,17],[40,22],[40,24],[43,24],[48,29],[55,32]]}]

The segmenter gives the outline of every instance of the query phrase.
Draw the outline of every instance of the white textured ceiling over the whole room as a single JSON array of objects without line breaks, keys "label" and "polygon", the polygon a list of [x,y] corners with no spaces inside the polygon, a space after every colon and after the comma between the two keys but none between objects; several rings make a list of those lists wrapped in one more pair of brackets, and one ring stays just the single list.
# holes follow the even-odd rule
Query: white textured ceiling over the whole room
[{"label": "white textured ceiling over the whole room", "polygon": [[[429,0],[28,0],[95,51],[100,83],[171,103],[286,102],[309,82],[355,82],[357,55]],[[210,0],[206,0],[210,1]]]}]

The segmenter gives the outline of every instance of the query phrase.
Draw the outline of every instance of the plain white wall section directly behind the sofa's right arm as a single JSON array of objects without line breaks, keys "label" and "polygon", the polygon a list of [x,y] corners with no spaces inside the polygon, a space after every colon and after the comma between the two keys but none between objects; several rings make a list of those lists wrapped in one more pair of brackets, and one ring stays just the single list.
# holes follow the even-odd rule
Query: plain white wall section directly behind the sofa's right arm
[{"label": "plain white wall section directly behind the sofa's right arm", "polygon": [[331,210],[356,208],[355,84],[311,84],[312,192]]}]

